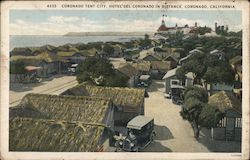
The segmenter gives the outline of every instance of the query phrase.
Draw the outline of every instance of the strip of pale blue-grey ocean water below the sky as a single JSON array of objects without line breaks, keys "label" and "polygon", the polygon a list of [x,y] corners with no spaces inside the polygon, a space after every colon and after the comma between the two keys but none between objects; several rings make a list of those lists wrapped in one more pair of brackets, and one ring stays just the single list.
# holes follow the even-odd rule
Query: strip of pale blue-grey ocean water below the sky
[{"label": "strip of pale blue-grey ocean water below the sky", "polygon": [[40,47],[43,45],[59,46],[67,43],[88,43],[98,41],[126,42],[132,39],[143,38],[144,36],[10,36],[10,50],[15,47]]}]

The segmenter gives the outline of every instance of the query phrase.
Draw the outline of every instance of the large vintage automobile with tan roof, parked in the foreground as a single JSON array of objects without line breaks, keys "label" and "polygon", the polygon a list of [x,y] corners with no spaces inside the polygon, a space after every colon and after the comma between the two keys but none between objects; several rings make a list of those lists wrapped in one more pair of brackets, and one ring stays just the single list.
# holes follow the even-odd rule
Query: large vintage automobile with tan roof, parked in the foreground
[{"label": "large vintage automobile with tan roof, parked in the foreground", "polygon": [[156,135],[154,119],[146,116],[136,116],[127,124],[127,135],[114,137],[116,151],[138,152],[147,147]]}]

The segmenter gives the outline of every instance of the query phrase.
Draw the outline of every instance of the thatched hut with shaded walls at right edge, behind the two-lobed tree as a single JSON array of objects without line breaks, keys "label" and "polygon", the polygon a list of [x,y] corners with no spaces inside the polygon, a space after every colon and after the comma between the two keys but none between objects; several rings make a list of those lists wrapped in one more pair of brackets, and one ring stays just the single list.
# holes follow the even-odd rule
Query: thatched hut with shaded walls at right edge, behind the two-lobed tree
[{"label": "thatched hut with shaded walls at right edge, behind the two-lobed tree", "polygon": [[217,106],[224,117],[211,129],[215,140],[241,141],[242,105],[233,93],[221,91],[209,97],[210,105]]}]

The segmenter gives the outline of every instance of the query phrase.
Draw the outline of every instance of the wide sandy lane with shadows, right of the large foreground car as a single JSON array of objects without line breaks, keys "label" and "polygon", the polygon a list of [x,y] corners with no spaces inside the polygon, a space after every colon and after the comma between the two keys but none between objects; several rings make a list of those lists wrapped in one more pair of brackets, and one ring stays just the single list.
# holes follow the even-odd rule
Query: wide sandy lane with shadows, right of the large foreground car
[{"label": "wide sandy lane with shadows, right of the large foreground car", "polygon": [[156,137],[144,151],[154,152],[240,152],[240,142],[214,141],[210,130],[203,129],[194,138],[188,121],[180,116],[181,106],[164,98],[164,82],[153,81],[145,99],[145,115],[154,117]]}]

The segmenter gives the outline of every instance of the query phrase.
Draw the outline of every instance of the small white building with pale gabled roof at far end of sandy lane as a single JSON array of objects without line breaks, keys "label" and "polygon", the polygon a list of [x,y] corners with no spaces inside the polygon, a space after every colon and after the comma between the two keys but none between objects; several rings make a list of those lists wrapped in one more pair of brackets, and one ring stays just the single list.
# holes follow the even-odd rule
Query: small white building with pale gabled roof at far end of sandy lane
[{"label": "small white building with pale gabled roof at far end of sandy lane", "polygon": [[176,71],[179,67],[174,68],[172,70],[169,70],[165,76],[162,78],[165,80],[165,94],[166,96],[168,96],[168,94],[171,92],[171,88],[173,88],[173,86],[176,88],[177,85],[179,86],[183,86],[183,87],[191,87],[193,86],[193,73],[189,72],[186,74],[186,79],[184,81],[179,80],[176,77]]}]

